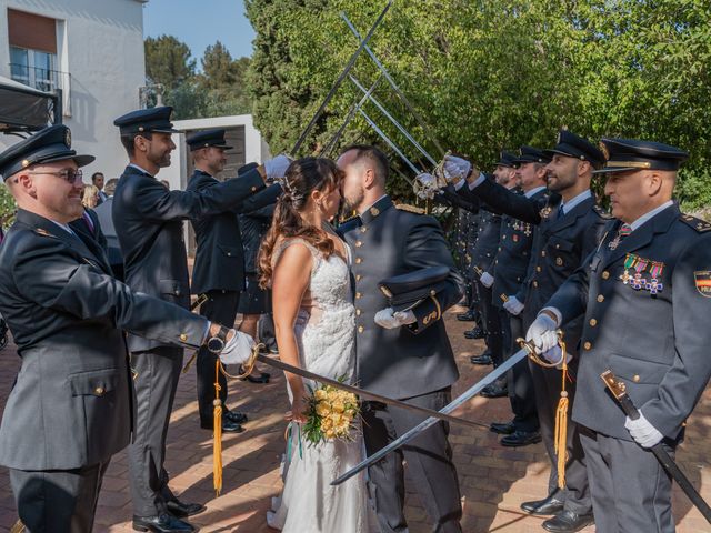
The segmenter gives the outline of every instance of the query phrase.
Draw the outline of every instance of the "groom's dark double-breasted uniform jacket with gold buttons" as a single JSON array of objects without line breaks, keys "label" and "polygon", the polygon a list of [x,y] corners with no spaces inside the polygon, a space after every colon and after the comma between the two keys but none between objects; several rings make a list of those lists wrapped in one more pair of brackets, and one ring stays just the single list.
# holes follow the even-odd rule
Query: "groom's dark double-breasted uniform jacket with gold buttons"
[{"label": "groom's dark double-breasted uniform jacket with gold buttons", "polygon": [[[459,372],[440,319],[461,298],[463,280],[437,220],[397,209],[384,197],[339,232],[353,252],[359,385],[403,399],[454,383]],[[374,323],[375,313],[389,306],[381,280],[442,264],[451,269],[447,288],[412,310],[414,324],[385,330]]]}]

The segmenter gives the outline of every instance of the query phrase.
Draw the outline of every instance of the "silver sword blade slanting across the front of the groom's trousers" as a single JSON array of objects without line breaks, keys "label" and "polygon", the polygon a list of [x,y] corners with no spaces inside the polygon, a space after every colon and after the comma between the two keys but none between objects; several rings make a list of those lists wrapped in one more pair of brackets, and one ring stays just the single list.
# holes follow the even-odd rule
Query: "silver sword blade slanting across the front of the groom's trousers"
[{"label": "silver sword blade slanting across the front of the groom's trousers", "polygon": [[[528,358],[528,355],[529,355],[529,351],[528,350],[525,350],[525,349],[519,350],[513,355],[511,355],[507,361],[504,361],[503,364],[499,365],[495,370],[493,370],[490,373],[488,373],[482,380],[478,381],[472,386],[470,386],[463,394],[457,396],[450,403],[448,403],[442,409],[440,409],[440,413],[451,413],[457,408],[459,408],[461,404],[463,404],[464,402],[468,402],[469,400],[474,398],[477,394],[479,394],[488,384],[493,383],[498,378],[500,378],[505,372],[508,372],[509,369],[513,368],[520,361],[525,360]],[[365,470],[371,464],[377,463],[378,461],[380,461],[382,457],[388,455],[393,450],[397,450],[398,447],[402,446],[403,444],[407,444],[412,439],[414,439],[420,433],[422,433],[424,430],[427,430],[427,429],[431,428],[432,425],[434,425],[437,422],[438,422],[438,420],[435,418],[433,418],[433,416],[430,416],[429,419],[420,422],[418,425],[415,425],[414,428],[412,428],[408,432],[403,433],[400,438],[398,438],[394,441],[392,441],[385,447],[383,447],[381,450],[378,450],[371,456],[369,456],[368,459],[361,461],[359,464],[353,466],[351,470],[349,470],[348,472],[346,472],[341,476],[339,476],[336,480],[333,480],[331,482],[331,485],[340,485],[341,483],[343,483],[344,481],[351,479],[352,476],[354,476],[359,472]]]}]

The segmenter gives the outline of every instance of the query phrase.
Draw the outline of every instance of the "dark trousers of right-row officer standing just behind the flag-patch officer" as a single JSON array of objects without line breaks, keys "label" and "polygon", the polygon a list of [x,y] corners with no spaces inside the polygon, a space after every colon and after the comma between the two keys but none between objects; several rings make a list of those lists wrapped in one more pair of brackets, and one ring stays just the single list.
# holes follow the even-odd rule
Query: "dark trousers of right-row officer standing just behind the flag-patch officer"
[{"label": "dark trousers of right-row officer standing just behind the flag-patch officer", "polygon": [[[569,369],[570,374],[575,375],[578,354],[573,355]],[[548,482],[548,493],[558,490],[558,457],[555,455],[555,411],[560,400],[562,386],[562,371],[545,369],[529,359],[529,368],[535,392],[535,409],[541,425],[541,436],[545,444],[545,451],[551,461],[551,475]],[[592,511],[590,500],[590,486],[588,484],[588,471],[585,470],[585,456],[580,444],[580,431],[572,421],[571,413],[575,398],[575,383],[570,380],[565,383],[568,391],[568,463],[565,463],[565,489],[558,495],[564,500],[565,510],[578,514],[588,514]],[[604,531],[604,530],[600,530]],[[605,532],[607,533],[607,532]]]}]

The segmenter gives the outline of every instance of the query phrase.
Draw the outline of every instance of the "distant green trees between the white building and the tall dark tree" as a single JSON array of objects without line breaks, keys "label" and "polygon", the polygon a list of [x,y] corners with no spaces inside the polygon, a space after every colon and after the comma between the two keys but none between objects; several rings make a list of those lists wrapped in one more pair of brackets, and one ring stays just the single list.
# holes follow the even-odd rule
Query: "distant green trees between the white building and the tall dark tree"
[{"label": "distant green trees between the white building and the tall dark tree", "polygon": [[249,113],[243,81],[249,62],[232,59],[217,41],[206,49],[197,73],[187,44],[171,36],[146,39],[147,81],[163,86],[163,101],[174,108],[177,120]]}]

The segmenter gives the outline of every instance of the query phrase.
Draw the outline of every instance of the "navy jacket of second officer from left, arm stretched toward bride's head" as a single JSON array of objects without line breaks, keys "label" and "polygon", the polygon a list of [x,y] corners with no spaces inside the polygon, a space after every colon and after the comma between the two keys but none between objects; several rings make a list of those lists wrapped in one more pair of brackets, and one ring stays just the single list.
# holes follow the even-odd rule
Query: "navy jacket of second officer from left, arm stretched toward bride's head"
[{"label": "navy jacket of second officer from left, arm stretched toward bride's head", "polygon": [[[183,308],[190,305],[182,221],[234,209],[264,188],[259,172],[216,183],[201,191],[169,191],[156,178],[129,165],[113,195],[113,225],[121,243],[126,283]],[[163,345],[129,336],[133,352]]]}]

